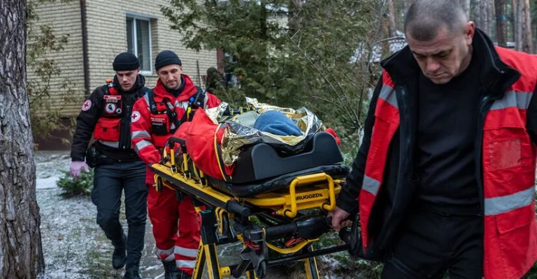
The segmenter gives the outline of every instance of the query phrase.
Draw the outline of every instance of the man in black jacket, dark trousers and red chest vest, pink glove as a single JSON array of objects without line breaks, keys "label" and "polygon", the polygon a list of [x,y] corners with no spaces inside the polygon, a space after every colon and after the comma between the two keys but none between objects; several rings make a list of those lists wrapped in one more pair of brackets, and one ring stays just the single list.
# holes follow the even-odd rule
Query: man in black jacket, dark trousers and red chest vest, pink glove
[{"label": "man in black jacket, dark trousers and red chest vest, pink glove", "polygon": [[[82,105],[76,119],[71,146],[71,176],[94,167],[92,202],[97,206],[96,221],[114,246],[112,266],[125,266],[124,278],[141,278],[138,273],[145,235],[148,188],[145,165],[131,148],[131,110],[143,96],[145,79],[134,54],[123,52],[112,63],[113,81],[97,87]],[[88,149],[90,139],[94,144]],[[120,224],[122,191],[129,235]]]}]

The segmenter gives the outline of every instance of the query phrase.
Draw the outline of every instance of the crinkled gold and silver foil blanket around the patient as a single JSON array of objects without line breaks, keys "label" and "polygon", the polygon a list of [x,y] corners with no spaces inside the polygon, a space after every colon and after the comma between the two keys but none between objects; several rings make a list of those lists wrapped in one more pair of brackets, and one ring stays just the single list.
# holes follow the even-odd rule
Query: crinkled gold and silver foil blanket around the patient
[{"label": "crinkled gold and silver foil blanket around the patient", "polygon": [[[301,136],[280,136],[271,133],[262,132],[250,126],[245,126],[238,123],[236,114],[231,113],[231,107],[227,103],[221,103],[219,107],[206,110],[207,115],[214,123],[225,123],[226,130],[224,137],[220,143],[222,147],[222,159],[227,166],[233,165],[242,149],[246,146],[266,143],[275,147],[282,153],[295,153],[304,148],[306,139],[313,136],[315,133],[326,130],[322,125],[322,121],[313,112],[310,112],[306,107],[301,107],[298,110],[287,107],[276,107],[265,103],[259,103],[255,98],[246,98],[248,108],[245,110],[255,111],[259,114],[271,110],[282,112],[290,119],[294,120],[296,126],[302,131]],[[232,115],[230,115],[232,114]]]}]

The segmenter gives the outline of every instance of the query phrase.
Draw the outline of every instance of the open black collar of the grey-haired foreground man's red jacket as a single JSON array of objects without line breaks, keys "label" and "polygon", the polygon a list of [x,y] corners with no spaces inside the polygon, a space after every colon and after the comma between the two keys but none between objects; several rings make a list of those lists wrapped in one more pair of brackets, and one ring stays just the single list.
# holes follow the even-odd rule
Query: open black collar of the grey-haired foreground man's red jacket
[{"label": "open black collar of the grey-haired foreground man's red jacket", "polygon": [[[482,88],[493,98],[501,99],[508,87],[519,79],[520,73],[501,61],[492,41],[478,28],[475,29],[472,45],[472,59],[478,59],[482,69],[479,77]],[[381,61],[380,66],[389,73],[395,84],[405,84],[406,80],[417,78],[420,73],[420,66],[408,45]]]}]

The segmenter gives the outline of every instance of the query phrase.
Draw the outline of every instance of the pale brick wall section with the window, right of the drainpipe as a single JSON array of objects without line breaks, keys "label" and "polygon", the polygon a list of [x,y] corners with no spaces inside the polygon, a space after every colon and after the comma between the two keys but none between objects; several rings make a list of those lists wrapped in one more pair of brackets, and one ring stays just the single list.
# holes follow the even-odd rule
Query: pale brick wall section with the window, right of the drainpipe
[{"label": "pale brick wall section with the window, right of the drainpipe", "polygon": [[[151,32],[151,73],[144,73],[145,84],[155,86],[157,75],[153,64],[155,56],[162,50],[173,50],[182,61],[185,74],[192,77],[197,85],[205,75],[207,68],[217,66],[216,51],[196,52],[182,46],[181,36],[170,29],[170,23],[160,12],[160,6],[169,3],[165,0],[88,0],[87,33],[88,55],[90,60],[90,84],[94,89],[103,84],[108,77],[113,77],[112,62],[115,55],[127,51],[127,17],[140,17],[150,20]],[[196,63],[197,62],[197,63]]]}]

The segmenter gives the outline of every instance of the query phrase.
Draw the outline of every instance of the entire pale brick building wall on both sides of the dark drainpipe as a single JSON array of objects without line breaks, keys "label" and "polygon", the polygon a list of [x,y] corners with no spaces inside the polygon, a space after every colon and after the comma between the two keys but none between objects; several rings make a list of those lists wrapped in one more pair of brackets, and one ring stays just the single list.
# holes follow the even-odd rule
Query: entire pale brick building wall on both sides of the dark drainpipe
[{"label": "entire pale brick building wall on both sides of the dark drainpipe", "polygon": [[[87,14],[87,47],[90,73],[90,92],[113,77],[113,59],[120,52],[127,51],[127,17],[140,17],[150,20],[151,55],[148,63],[153,68],[155,56],[162,50],[173,50],[182,60],[185,74],[192,77],[197,85],[209,67],[217,66],[216,51],[196,52],[182,46],[181,36],[172,31],[169,21],[162,16],[160,6],[168,4],[166,0],[85,0]],[[84,70],[82,24],[80,21],[80,1],[55,1],[39,3],[36,9],[39,19],[34,28],[49,24],[58,36],[69,34],[69,43],[60,52],[47,54],[43,58],[54,59],[62,70],[59,77],[50,81],[52,110],[61,110],[64,116],[76,116],[84,96]],[[199,73],[198,73],[199,65]],[[155,86],[155,70],[144,73],[145,84]],[[37,76],[28,69],[28,80],[36,81]],[[62,98],[59,85],[65,80],[72,82],[71,89],[78,101],[66,103]]]}]

